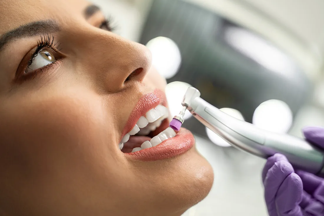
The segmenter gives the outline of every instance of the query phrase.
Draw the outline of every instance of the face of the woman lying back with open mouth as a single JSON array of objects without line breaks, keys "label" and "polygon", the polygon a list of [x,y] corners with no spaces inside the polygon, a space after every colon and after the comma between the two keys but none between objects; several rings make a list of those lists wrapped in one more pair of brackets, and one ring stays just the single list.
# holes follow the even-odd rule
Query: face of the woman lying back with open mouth
[{"label": "face of the woman lying back with open mouth", "polygon": [[109,31],[88,2],[2,0],[0,212],[165,216],[202,200],[213,172],[189,131],[131,153],[165,119],[119,148],[167,106],[165,85],[145,46]]}]

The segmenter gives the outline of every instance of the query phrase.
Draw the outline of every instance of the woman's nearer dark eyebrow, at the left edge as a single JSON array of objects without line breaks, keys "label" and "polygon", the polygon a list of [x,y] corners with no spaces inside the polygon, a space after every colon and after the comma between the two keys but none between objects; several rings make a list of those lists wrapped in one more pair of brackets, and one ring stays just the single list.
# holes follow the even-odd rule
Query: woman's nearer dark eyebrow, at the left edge
[{"label": "woman's nearer dark eyebrow, at the left edge", "polygon": [[8,42],[24,37],[33,37],[40,34],[58,32],[59,25],[54,20],[41,20],[31,22],[0,36],[0,51]]}]

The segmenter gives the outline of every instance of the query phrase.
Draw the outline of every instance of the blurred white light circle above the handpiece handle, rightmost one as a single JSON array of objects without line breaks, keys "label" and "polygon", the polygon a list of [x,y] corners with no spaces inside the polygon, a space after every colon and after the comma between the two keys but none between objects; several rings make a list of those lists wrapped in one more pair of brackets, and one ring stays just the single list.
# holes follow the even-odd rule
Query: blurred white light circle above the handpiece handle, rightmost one
[{"label": "blurred white light circle above the handpiece handle, rightmost one", "polygon": [[261,103],[254,111],[252,123],[259,128],[286,133],[293,122],[289,106],[280,100],[269,100]]}]

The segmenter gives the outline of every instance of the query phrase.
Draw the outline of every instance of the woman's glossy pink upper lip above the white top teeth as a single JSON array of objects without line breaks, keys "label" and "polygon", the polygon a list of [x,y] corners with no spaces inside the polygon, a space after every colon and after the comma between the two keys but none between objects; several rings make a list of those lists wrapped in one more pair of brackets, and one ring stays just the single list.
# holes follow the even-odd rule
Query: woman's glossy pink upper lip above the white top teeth
[{"label": "woman's glossy pink upper lip above the white top teeth", "polygon": [[136,125],[141,116],[145,115],[149,110],[153,109],[159,104],[167,106],[166,96],[163,91],[156,89],[151,93],[143,95],[133,109],[122,131],[121,138]]}]

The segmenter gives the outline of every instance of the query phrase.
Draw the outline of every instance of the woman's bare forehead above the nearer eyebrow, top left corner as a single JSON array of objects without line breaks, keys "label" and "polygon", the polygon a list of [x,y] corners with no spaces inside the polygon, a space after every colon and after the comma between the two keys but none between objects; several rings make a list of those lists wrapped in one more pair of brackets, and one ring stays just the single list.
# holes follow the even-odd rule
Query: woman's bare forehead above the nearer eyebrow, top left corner
[{"label": "woman's bare forehead above the nearer eyebrow, top left corner", "polygon": [[0,0],[0,35],[44,19],[82,18],[85,0]]}]

